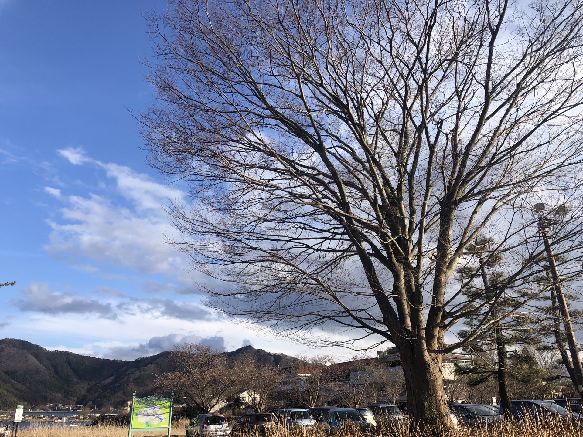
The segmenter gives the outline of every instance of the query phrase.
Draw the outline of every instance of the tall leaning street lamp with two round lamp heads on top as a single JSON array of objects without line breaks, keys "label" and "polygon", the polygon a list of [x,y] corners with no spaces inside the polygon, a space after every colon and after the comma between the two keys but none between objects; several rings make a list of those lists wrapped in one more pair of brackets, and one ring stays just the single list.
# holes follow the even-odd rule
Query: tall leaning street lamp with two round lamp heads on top
[{"label": "tall leaning street lamp with two round lamp heads on top", "polygon": [[577,391],[583,402],[583,366],[581,365],[581,357],[579,356],[579,348],[577,347],[577,340],[575,339],[575,332],[573,330],[573,325],[571,324],[571,316],[569,315],[569,308],[567,305],[567,299],[563,294],[563,286],[561,286],[561,281],[559,280],[559,271],[557,270],[557,263],[554,258],[553,248],[550,245],[549,230],[553,224],[560,220],[563,220],[567,216],[568,210],[564,205],[558,206],[556,209],[549,212],[554,213],[554,220],[549,218],[549,214],[544,214],[546,206],[544,203],[539,202],[535,205],[535,211],[539,214],[539,231],[540,235],[543,237],[543,242],[545,243],[545,251],[547,254],[547,259],[549,261],[549,270],[551,274],[551,279],[553,281],[553,288],[557,296],[557,304],[559,304],[559,311],[561,317],[563,318],[563,326],[565,329],[565,336],[567,337],[567,343],[569,345],[569,351],[571,353],[571,361],[573,362],[573,370],[575,372],[575,379],[577,380]]}]

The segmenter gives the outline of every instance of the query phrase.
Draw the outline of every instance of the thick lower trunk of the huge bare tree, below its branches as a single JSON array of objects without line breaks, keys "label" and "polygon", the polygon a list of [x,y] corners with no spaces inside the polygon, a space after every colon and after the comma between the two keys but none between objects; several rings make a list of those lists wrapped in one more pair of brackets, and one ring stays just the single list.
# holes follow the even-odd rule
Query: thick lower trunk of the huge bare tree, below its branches
[{"label": "thick lower trunk of the huge bare tree, below its branches", "polygon": [[454,428],[443,389],[441,355],[429,354],[421,345],[397,346],[407,388],[412,429],[434,435]]}]

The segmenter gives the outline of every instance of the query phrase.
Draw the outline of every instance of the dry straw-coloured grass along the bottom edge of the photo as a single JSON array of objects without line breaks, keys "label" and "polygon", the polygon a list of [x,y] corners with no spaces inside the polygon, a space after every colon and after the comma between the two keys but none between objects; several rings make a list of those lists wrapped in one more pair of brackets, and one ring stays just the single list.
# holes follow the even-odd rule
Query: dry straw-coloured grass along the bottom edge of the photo
[{"label": "dry straw-coloured grass along the bottom edge of the photo", "polygon": [[[173,425],[172,435],[184,436],[188,421],[181,420]],[[347,433],[350,437],[363,437],[360,432]],[[18,437],[126,437],[127,427],[51,427],[40,426],[22,429]],[[136,432],[136,437],[161,436],[162,432]],[[421,437],[421,433],[412,433],[408,430],[399,433],[380,432],[380,437]],[[516,423],[499,428],[462,428],[461,431],[451,434],[455,437],[583,437],[581,424],[549,422],[543,424]],[[276,429],[269,434],[271,437],[327,437],[322,431],[286,431]],[[250,437],[255,437],[251,435]]]}]

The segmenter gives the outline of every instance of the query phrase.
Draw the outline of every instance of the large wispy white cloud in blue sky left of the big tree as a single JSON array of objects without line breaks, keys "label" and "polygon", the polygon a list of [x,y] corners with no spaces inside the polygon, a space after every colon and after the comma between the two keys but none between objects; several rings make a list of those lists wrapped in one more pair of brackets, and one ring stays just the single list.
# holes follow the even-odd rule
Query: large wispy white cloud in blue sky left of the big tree
[{"label": "large wispy white cloud in blue sky left of the big tree", "polygon": [[45,248],[143,274],[163,273],[186,283],[188,262],[163,237],[173,233],[163,205],[168,199],[181,199],[183,193],[129,167],[93,160],[82,149],[62,149],[59,154],[72,164],[92,162],[106,170],[107,176],[115,179],[117,192],[129,202],[118,205],[92,193],[64,197],[68,204],[61,209],[64,220],[49,222],[52,232]]}]

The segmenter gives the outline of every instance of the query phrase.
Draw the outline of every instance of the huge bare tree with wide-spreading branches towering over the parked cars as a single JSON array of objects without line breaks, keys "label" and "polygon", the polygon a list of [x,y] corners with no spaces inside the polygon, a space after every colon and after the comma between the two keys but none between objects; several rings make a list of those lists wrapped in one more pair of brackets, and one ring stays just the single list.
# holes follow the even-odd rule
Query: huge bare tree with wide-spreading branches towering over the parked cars
[{"label": "huge bare tree with wide-spreading branches towering over the parked cars", "polygon": [[[224,281],[210,302],[296,339],[391,341],[413,426],[451,427],[442,355],[547,291],[535,202],[568,203],[548,237],[578,274],[581,1],[170,3],[143,132],[189,186],[171,214]],[[478,235],[506,273],[486,304],[454,274]]]}]

